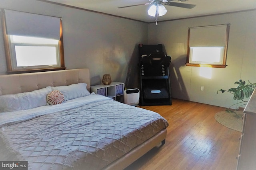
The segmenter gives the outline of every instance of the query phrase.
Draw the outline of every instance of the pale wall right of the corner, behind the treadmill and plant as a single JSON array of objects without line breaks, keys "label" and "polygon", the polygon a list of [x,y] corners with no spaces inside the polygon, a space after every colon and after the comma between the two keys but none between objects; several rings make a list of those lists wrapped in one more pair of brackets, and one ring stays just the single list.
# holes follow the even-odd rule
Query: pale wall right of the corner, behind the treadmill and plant
[{"label": "pale wall right of the corner, behind the treadmill and plant", "polygon": [[[238,12],[148,25],[148,43],[161,43],[172,56],[170,66],[172,97],[215,106],[236,103],[232,95],[217,90],[236,87],[237,80],[256,82],[256,11]],[[202,67],[186,66],[188,27],[230,23],[226,68],[208,68],[211,78],[200,76]],[[204,86],[204,91],[201,91]]]}]

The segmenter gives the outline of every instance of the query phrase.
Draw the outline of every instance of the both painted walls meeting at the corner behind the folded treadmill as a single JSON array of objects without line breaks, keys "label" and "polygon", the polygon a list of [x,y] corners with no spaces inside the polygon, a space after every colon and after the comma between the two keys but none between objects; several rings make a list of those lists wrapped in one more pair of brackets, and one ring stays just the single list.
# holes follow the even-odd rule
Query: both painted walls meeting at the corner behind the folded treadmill
[{"label": "both painted walls meeting at the corner behind the folded treadmill", "polygon": [[[240,78],[256,82],[256,11],[159,22],[156,26],[35,0],[0,0],[0,8],[62,17],[65,65],[67,69],[89,68],[92,85],[99,84],[103,74],[111,74],[113,81],[137,88],[139,43],[161,43],[172,56],[174,98],[229,107],[236,101],[228,93],[216,94],[218,89],[235,87]],[[188,27],[225,23],[231,24],[228,66],[202,71],[186,66]],[[200,71],[210,71],[211,78],[200,76]],[[2,33],[0,74],[6,74]]]}]

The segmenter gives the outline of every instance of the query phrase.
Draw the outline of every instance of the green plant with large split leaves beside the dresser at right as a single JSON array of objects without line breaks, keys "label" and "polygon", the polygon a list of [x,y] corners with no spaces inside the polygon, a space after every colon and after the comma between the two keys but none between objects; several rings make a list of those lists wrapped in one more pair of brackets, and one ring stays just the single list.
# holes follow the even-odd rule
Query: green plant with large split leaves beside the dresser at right
[{"label": "green plant with large split leaves beside the dresser at right", "polygon": [[[251,83],[249,80],[248,80],[248,83],[246,83],[243,80],[239,80],[235,82],[235,84],[238,84],[236,88],[230,88],[228,90],[220,89],[220,90],[217,90],[217,94],[218,92],[222,92],[222,93],[229,92],[233,95],[234,100],[241,100],[241,102],[236,103],[240,105],[235,109],[235,111],[231,110],[230,107],[236,104],[233,104],[228,109],[226,109],[227,112],[236,114],[236,110],[238,110],[239,107],[247,104],[248,100],[244,100],[244,97],[249,98],[252,95],[252,92],[256,87],[256,83]],[[236,115],[239,116],[238,114]]]}]

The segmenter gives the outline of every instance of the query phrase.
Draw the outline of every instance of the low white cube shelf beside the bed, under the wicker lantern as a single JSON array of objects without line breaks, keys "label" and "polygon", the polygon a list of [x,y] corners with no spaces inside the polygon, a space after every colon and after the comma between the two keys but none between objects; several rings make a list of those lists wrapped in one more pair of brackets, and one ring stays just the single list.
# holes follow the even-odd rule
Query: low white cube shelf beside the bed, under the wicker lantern
[{"label": "low white cube shelf beside the bed, under the wicker lantern", "polygon": [[99,84],[91,86],[91,92],[116,100],[117,96],[124,95],[124,83],[112,82],[109,85]]}]

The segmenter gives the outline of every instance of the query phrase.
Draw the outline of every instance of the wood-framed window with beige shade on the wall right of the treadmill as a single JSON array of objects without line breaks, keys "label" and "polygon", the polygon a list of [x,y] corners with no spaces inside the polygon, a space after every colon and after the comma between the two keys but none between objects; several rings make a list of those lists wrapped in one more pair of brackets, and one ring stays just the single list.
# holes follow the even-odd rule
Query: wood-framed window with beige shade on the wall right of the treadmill
[{"label": "wood-framed window with beige shade on the wall right of the treadmill", "polygon": [[229,26],[189,28],[186,65],[225,68]]}]

